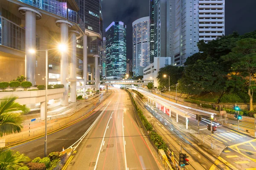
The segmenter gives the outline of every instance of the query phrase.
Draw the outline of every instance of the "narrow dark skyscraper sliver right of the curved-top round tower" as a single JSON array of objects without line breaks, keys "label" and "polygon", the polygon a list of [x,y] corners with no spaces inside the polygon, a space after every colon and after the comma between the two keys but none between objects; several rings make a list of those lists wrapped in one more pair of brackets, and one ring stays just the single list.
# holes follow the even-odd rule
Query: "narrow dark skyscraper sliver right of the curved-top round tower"
[{"label": "narrow dark skyscraper sliver right of the curved-top round tower", "polygon": [[149,0],[149,18],[150,18],[150,63],[154,62],[154,0]]}]

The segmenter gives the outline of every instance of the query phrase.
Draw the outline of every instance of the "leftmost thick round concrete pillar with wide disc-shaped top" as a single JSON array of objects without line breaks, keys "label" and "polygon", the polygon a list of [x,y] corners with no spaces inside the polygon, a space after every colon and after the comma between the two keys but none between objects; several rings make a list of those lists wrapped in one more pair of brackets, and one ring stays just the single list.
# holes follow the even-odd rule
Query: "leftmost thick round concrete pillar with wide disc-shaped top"
[{"label": "leftmost thick round concrete pillar with wide disc-shaped top", "polygon": [[25,77],[26,81],[36,84],[35,80],[35,51],[36,49],[36,20],[42,18],[40,12],[26,7],[20,7],[19,12],[25,15]]}]

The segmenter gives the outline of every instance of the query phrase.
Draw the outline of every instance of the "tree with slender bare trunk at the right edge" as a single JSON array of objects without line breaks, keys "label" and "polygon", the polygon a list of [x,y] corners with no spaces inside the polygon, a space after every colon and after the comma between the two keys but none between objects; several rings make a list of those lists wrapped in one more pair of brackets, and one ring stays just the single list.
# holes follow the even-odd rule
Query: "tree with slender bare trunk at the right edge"
[{"label": "tree with slender bare trunk at the right edge", "polygon": [[250,111],[253,111],[253,91],[256,89],[256,39],[246,38],[236,42],[232,52],[222,57],[226,62],[231,63],[230,74],[237,73],[247,80],[250,97]]}]

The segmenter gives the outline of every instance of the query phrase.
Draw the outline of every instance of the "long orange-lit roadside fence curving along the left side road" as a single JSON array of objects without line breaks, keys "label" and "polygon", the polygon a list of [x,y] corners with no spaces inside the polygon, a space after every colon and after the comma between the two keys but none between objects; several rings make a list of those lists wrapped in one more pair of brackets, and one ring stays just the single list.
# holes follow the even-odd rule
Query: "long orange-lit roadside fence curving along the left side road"
[{"label": "long orange-lit roadside fence curving along the left side road", "polygon": [[[111,94],[112,94],[112,92],[105,95],[104,98],[101,100],[101,102],[105,101],[105,99],[107,99],[108,96],[110,96]],[[95,102],[96,100],[98,100],[98,99],[95,99],[93,102]],[[61,122],[58,122],[58,123],[55,122],[55,120],[48,120],[48,122],[47,122],[47,124],[48,124],[47,132],[51,133],[55,130],[60,129],[61,127],[64,127],[64,126],[70,124],[71,122],[74,122],[75,120],[78,120],[78,119],[86,116],[93,109],[95,109],[98,105],[99,105],[99,103],[97,105],[93,105],[93,107],[87,109],[83,113],[73,114],[68,119],[66,118],[65,120],[63,120]],[[81,109],[82,108],[80,108],[79,110],[81,110]],[[50,125],[51,122],[52,122],[53,125]],[[18,135],[15,135],[15,136],[12,136],[12,137],[9,137],[9,138],[5,138],[5,143],[6,143],[6,146],[8,146],[8,145],[12,145],[16,142],[19,142],[19,143],[26,142],[26,141],[29,141],[29,140],[34,139],[36,137],[42,136],[42,135],[44,135],[44,133],[45,133],[45,128],[40,128],[40,129],[37,129],[37,130],[35,130],[35,129],[34,130],[33,129],[32,130],[27,130],[26,132],[21,132]]]}]

